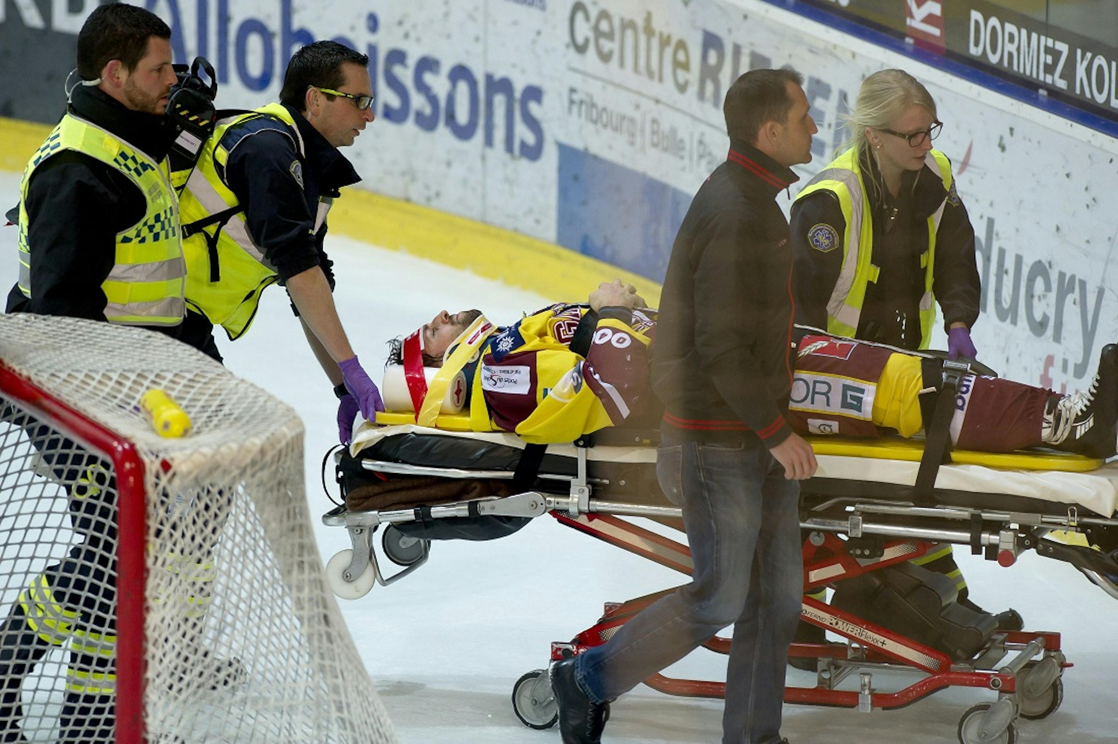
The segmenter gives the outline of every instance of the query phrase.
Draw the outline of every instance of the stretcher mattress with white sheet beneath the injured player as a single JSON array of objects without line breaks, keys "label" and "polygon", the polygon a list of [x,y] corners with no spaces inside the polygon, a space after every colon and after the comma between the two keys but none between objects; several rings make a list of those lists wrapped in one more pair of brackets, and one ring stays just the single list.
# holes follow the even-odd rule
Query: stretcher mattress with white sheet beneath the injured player
[{"label": "stretcher mattress with white sheet beneath the injured player", "polygon": [[[608,437],[604,439],[613,442],[629,440],[645,443],[589,448],[590,477],[595,477],[596,470],[608,471],[608,490],[617,491],[618,483],[627,480],[629,488],[626,490],[632,491],[635,498],[639,498],[639,489],[652,489],[657,492],[648,493],[646,498],[662,503],[663,496],[654,486],[655,445],[647,443],[648,437],[639,432],[627,434],[624,428],[605,432],[608,432]],[[814,437],[811,441],[819,467],[815,477],[803,483],[805,495],[861,495],[864,498],[911,500],[920,469],[918,442],[900,439],[851,442],[837,437]],[[510,433],[448,431],[415,424],[363,424],[354,436],[350,453],[358,459],[429,468],[514,470],[523,448],[524,442]],[[872,456],[874,454],[881,456]],[[1102,517],[1111,517],[1118,510],[1118,461],[1086,472],[1068,472],[973,463],[987,460],[1027,464],[1036,458],[1038,462],[1050,467],[1080,468],[1084,462],[1099,464],[1099,461],[1049,452],[1036,455],[953,453],[953,456],[958,462],[941,465],[936,478],[936,499],[944,505],[1055,515],[1067,515],[1069,507],[1078,507]],[[623,467],[620,471],[616,470],[618,465]],[[549,445],[541,471],[574,475],[576,448],[571,444]],[[596,492],[599,492],[597,487]],[[610,498],[617,498],[616,492]]]}]

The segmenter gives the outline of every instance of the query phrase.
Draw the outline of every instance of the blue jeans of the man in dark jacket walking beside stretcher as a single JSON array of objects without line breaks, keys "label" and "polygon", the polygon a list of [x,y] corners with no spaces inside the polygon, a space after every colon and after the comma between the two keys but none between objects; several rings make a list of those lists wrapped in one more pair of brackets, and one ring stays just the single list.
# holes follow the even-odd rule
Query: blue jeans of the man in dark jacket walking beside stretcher
[{"label": "blue jeans of the man in dark jacket walking beside stretcher", "polygon": [[759,442],[697,443],[671,432],[656,475],[683,508],[692,581],[577,657],[576,679],[591,700],[612,700],[732,624],[722,743],[779,742],[804,584],[799,483]]}]

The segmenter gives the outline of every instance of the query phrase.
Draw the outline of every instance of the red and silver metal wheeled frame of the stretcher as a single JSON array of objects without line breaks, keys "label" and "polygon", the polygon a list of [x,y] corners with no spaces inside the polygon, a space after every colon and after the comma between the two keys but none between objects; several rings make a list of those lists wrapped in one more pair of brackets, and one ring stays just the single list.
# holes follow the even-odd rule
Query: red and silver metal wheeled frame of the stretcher
[{"label": "red and silver metal wheeled frame of the stretcher", "polygon": [[[340,583],[361,583],[371,587],[373,581],[389,585],[417,569],[429,555],[429,543],[420,546],[418,557],[391,576],[382,574],[372,547],[372,535],[379,525],[398,525],[416,520],[447,517],[540,517],[550,514],[560,524],[601,539],[624,550],[639,555],[683,574],[692,569],[689,548],[670,537],[645,529],[627,518],[644,517],[659,521],[681,520],[676,507],[634,505],[595,498],[594,483],[587,477],[587,448],[576,444],[577,473],[560,475],[539,473],[538,488],[508,497],[487,497],[436,506],[417,506],[379,511],[351,512],[339,507],[323,516],[326,526],[344,527],[352,552],[343,550],[328,568],[337,587]],[[399,462],[362,460],[361,467],[371,472],[456,479],[512,480],[513,472],[433,468]],[[805,490],[811,489],[811,481]],[[841,514],[841,517],[836,517]],[[682,522],[680,521],[680,525]],[[931,526],[927,526],[930,524]],[[985,553],[1003,566],[1013,565],[1025,549],[1040,555],[1069,561],[1092,583],[1118,599],[1118,585],[1099,565],[1092,550],[1063,545],[1046,537],[1053,529],[1076,531],[1081,526],[1098,524],[1118,528],[1118,520],[1084,517],[1076,506],[1067,514],[1031,514],[1008,510],[917,506],[851,497],[825,498],[806,515],[800,526],[809,531],[804,545],[805,591],[826,586],[841,578],[862,575],[927,554],[939,543],[968,545],[973,552]],[[679,529],[682,529],[680,526]],[[844,536],[845,541],[839,536]],[[878,540],[872,557],[855,558],[847,554],[854,540],[872,537]],[[816,558],[817,548],[826,548],[828,558]],[[348,554],[348,555],[347,555]],[[370,576],[371,572],[371,576]],[[340,575],[337,575],[339,574]],[[361,594],[368,591],[364,588]],[[580,653],[604,643],[615,629],[624,624],[666,590],[656,594],[607,602],[601,618],[579,632],[570,642],[553,642],[552,661]],[[993,704],[974,706],[959,719],[958,735],[963,744],[1016,741],[1018,717],[1042,718],[1053,713],[1062,700],[1063,670],[1070,665],[1062,650],[1060,633],[998,631],[973,659],[953,662],[930,647],[907,639],[880,625],[847,612],[836,610],[811,597],[804,597],[802,619],[846,640],[845,644],[794,643],[789,658],[816,660],[815,687],[787,687],[785,700],[806,705],[858,708],[861,712],[893,709],[910,705],[947,687],[974,687],[997,694]],[[716,637],[704,647],[728,653],[730,641]],[[836,651],[842,651],[839,656]],[[920,679],[893,693],[878,691],[873,674],[883,669],[907,669],[922,675]],[[859,672],[859,689],[839,686]],[[724,696],[724,682],[673,679],[661,674],[646,680],[653,689],[669,695],[719,698]],[[555,724],[553,697],[546,670],[525,674],[514,687],[513,705],[518,717],[533,728]],[[530,709],[525,709],[525,706]]]}]

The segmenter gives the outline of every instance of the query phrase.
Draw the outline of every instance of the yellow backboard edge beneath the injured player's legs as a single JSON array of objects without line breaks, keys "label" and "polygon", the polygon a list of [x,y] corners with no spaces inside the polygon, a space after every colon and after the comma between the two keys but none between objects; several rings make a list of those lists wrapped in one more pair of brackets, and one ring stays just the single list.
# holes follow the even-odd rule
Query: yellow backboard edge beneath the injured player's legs
[{"label": "yellow backboard edge beneath the injured player's legs", "polygon": [[[923,442],[902,439],[854,440],[842,436],[808,436],[815,454],[834,454],[849,458],[877,458],[879,460],[908,460],[919,462]],[[951,450],[951,462],[958,465],[984,465],[1003,470],[1062,470],[1087,472],[1102,467],[1102,460],[1084,458],[1071,452],[974,452]]]}]

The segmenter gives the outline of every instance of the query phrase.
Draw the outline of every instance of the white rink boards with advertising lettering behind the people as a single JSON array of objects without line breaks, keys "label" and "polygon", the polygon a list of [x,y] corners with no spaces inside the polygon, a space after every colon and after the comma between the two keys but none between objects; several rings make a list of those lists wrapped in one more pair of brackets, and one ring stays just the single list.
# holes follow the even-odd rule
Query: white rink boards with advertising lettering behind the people
[{"label": "white rink boards with advertising lettering behind the people", "polygon": [[[74,35],[95,3],[78,4],[0,6],[0,114],[57,120]],[[171,26],[177,59],[203,55],[215,64],[226,107],[273,101],[302,44],[334,38],[368,54],[377,121],[345,150],[362,188],[555,242],[656,281],[691,196],[726,158],[721,103],[739,74],[792,65],[805,75],[819,132],[814,161],[797,170],[799,183],[781,197],[787,208],[840,151],[841,116],[862,79],[906,67],[938,102],[945,128],[936,144],[954,161],[977,234],[979,358],[1007,376],[1070,390],[1089,385],[1100,348],[1118,340],[1116,282],[1108,276],[1118,233],[1114,140],[769,3],[146,4]],[[908,18],[928,35],[939,28],[921,15],[922,3],[908,4],[900,22]],[[947,43],[973,41],[988,60],[995,29],[998,64],[1006,64],[1008,17],[977,0],[949,7],[956,4],[982,13],[985,36],[982,45],[977,36],[957,37],[948,13]],[[1052,75],[1053,85],[1065,81],[1069,91],[1084,90],[1086,79],[1092,100],[1106,87],[1109,101],[1118,57],[1103,55],[1103,65],[1091,53],[1084,63],[1078,40],[1045,37],[1042,44],[1039,32],[1034,55],[1033,30],[1012,22],[1011,66],[1021,68],[1027,55],[1022,69],[1029,74]],[[1058,43],[1068,46],[1062,67]]]}]

